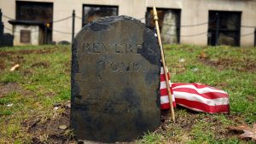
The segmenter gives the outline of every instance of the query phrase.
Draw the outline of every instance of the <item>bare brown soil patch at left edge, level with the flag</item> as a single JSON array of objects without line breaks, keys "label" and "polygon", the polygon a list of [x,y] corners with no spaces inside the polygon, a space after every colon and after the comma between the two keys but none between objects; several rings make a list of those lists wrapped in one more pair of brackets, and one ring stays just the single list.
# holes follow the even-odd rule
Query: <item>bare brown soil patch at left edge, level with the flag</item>
[{"label": "bare brown soil patch at left edge, level with the flag", "polygon": [[21,93],[22,95],[32,95],[31,91],[22,89],[17,83],[0,84],[0,98],[12,92]]}]

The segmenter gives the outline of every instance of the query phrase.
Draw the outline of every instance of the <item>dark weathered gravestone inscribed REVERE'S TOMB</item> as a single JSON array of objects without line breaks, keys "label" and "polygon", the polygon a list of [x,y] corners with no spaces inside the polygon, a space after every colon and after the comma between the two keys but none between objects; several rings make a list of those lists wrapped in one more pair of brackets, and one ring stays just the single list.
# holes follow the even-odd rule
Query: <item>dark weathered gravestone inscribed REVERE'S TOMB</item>
[{"label": "dark weathered gravestone inscribed REVERE'S TOMB", "polygon": [[160,49],[139,20],[115,16],[84,26],[71,75],[77,140],[133,141],[160,126]]}]

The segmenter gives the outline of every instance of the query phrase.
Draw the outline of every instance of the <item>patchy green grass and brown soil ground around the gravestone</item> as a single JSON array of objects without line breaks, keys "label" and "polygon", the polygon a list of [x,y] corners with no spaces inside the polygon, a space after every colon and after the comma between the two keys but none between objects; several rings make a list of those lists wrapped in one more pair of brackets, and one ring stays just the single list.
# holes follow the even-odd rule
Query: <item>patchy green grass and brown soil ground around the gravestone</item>
[{"label": "patchy green grass and brown soil ground around the gravestone", "polygon": [[[208,84],[230,95],[229,114],[177,107],[177,123],[136,143],[254,143],[231,126],[256,123],[256,49],[165,45],[172,82]],[[0,143],[72,143],[69,130],[71,46],[0,49]],[[19,64],[15,71],[10,68]],[[148,119],[150,120],[150,119]]]}]

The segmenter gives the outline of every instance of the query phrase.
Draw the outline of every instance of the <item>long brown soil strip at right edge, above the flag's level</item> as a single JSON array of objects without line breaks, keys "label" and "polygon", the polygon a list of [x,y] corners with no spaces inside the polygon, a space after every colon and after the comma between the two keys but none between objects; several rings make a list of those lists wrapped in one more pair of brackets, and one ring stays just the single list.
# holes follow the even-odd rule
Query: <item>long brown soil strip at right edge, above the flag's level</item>
[{"label": "long brown soil strip at right edge, above the flag's level", "polygon": [[217,67],[218,70],[227,68],[234,69],[238,72],[256,72],[256,61],[247,58],[219,58],[218,60],[210,60],[209,58],[200,57],[199,60],[207,66]]}]

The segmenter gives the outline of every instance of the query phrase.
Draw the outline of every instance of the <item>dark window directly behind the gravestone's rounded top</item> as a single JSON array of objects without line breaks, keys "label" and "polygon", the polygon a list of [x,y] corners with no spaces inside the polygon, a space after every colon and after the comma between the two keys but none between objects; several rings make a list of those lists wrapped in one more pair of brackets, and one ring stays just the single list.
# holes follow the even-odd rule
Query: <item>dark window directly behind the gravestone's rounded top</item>
[{"label": "dark window directly behind the gravestone's rounded top", "polygon": [[83,5],[82,26],[106,16],[117,16],[118,12],[119,8],[117,6]]}]

